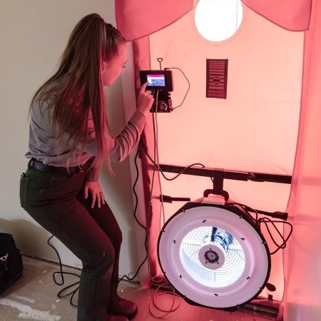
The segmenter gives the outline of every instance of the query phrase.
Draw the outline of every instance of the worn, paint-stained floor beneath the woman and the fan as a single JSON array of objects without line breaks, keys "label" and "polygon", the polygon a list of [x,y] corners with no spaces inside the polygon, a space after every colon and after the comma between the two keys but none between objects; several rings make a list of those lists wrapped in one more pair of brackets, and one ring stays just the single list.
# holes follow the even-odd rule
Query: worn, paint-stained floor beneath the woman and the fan
[{"label": "worn, paint-stained floor beneath the woman and the fan", "polygon": [[[58,265],[24,257],[24,272],[5,292],[0,295],[0,321],[44,320],[74,321],[76,308],[70,305],[70,297],[59,299],[62,287],[78,281],[76,276],[65,277],[65,285],[58,286],[52,279],[52,273],[58,271]],[[63,267],[64,272],[79,270]],[[164,315],[153,305],[156,289],[143,290],[131,282],[121,282],[119,295],[133,300],[138,305],[138,315],[133,321],[154,321]],[[161,295],[158,306],[168,310],[173,302],[173,295]],[[204,307],[188,305],[182,298],[177,310],[170,312],[163,320],[168,321],[273,321],[275,319],[255,315],[244,311],[225,312]],[[76,303],[76,297],[74,300]],[[175,303],[176,305],[176,303]],[[151,311],[155,316],[152,315]]]}]

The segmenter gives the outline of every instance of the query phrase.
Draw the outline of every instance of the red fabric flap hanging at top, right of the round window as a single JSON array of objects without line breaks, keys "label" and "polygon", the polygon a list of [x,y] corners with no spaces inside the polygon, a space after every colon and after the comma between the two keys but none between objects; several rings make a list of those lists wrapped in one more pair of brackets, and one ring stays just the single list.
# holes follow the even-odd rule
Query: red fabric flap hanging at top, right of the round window
[{"label": "red fabric flap hanging at top, right of the round window", "polygon": [[242,0],[250,9],[278,26],[305,31],[309,28],[312,0]]}]

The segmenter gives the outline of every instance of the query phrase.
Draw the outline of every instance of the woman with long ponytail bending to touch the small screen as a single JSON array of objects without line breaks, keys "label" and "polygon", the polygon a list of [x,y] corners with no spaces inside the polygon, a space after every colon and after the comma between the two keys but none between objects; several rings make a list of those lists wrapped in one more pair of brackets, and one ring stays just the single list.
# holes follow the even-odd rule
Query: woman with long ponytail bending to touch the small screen
[{"label": "woman with long ponytail bending to touch the small screen", "polygon": [[154,100],[145,83],[127,126],[110,136],[103,86],[118,78],[126,57],[120,32],[89,14],[73,29],[58,71],[31,101],[21,206],[83,263],[78,321],[126,321],[137,313],[117,295],[122,235],[98,183],[103,161],[111,170],[111,161],[136,146]]}]

